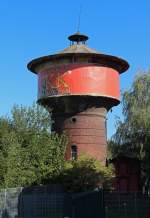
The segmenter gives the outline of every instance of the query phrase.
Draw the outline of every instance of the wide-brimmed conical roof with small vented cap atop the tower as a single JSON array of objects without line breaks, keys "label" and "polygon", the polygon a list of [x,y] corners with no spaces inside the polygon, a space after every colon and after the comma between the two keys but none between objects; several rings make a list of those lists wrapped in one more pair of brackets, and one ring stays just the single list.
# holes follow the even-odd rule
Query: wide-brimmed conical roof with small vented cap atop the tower
[{"label": "wide-brimmed conical roof with small vented cap atop the tower", "polygon": [[97,63],[103,66],[109,66],[116,69],[119,73],[123,73],[129,68],[127,61],[112,55],[100,53],[95,49],[89,48],[86,45],[86,41],[89,39],[89,37],[84,34],[77,32],[69,36],[68,39],[70,40],[69,47],[53,55],[47,55],[32,60],[27,65],[28,69],[33,73],[37,73],[37,66],[47,62],[54,62],[54,64],[56,64],[56,62],[60,59],[62,60],[63,58],[68,57],[73,59],[74,57],[84,57],[88,59],[88,63]]}]

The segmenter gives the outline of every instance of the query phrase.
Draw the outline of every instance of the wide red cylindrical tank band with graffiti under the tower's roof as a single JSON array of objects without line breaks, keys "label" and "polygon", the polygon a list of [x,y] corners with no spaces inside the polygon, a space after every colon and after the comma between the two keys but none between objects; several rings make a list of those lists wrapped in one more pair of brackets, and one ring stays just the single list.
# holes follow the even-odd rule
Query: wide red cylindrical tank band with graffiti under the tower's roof
[{"label": "wide red cylindrical tank band with graffiti under the tower's roof", "polygon": [[119,72],[96,64],[65,64],[38,72],[38,98],[60,95],[104,96],[119,101]]}]

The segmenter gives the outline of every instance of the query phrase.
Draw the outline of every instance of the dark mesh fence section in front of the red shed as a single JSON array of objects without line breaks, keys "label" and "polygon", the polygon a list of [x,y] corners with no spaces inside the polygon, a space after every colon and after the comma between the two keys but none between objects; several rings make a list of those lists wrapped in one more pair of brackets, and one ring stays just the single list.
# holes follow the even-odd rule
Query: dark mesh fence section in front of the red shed
[{"label": "dark mesh fence section in front of the red shed", "polygon": [[106,218],[150,218],[150,197],[142,193],[105,192]]}]

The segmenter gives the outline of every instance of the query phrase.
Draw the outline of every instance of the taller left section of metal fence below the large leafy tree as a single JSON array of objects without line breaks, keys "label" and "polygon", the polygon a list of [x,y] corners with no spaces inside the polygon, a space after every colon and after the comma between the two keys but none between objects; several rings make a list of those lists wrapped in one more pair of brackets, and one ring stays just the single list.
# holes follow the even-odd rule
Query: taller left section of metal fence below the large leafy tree
[{"label": "taller left section of metal fence below the large leafy tree", "polygon": [[60,186],[0,191],[0,218],[62,218],[66,194]]}]

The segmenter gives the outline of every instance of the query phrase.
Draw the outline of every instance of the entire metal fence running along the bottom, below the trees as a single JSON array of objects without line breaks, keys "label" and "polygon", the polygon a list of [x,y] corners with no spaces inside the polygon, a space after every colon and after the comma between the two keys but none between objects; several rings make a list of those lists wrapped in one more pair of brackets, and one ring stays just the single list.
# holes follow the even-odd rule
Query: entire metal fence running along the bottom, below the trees
[{"label": "entire metal fence running along the bottom, below the trees", "polygon": [[0,218],[104,218],[104,216],[150,218],[150,198],[142,193],[102,194],[101,191],[71,195],[64,193],[57,185],[0,191]]}]

